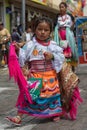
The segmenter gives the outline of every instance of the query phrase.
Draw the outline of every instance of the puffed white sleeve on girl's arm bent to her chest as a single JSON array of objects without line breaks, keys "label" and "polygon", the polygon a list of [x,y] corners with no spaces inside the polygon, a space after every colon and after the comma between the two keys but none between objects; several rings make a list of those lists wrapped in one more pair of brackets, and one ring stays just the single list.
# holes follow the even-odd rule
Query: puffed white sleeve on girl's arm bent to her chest
[{"label": "puffed white sleeve on girl's arm bent to her chest", "polygon": [[63,49],[59,47],[56,43],[53,43],[50,46],[50,50],[54,56],[54,60],[52,61],[53,67],[58,73],[62,69],[63,62],[65,61]]}]

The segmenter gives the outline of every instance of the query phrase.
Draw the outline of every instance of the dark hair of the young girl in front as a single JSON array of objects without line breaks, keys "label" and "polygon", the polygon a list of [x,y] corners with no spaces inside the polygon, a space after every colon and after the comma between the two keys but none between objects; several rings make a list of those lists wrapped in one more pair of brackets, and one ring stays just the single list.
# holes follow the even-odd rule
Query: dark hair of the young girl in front
[{"label": "dark hair of the young girl in front", "polygon": [[53,30],[53,23],[52,23],[52,20],[48,17],[39,17],[36,19],[35,23],[34,23],[34,31],[36,30],[37,26],[39,23],[42,23],[42,22],[46,22],[49,24],[50,26],[50,32],[52,32]]}]

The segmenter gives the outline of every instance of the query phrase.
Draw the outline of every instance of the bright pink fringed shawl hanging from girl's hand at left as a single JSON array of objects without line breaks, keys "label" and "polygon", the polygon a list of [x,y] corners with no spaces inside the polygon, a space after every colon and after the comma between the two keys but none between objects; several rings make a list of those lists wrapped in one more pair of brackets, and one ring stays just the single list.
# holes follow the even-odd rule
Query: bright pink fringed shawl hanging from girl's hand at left
[{"label": "bright pink fringed shawl hanging from girl's hand at left", "polygon": [[21,71],[18,57],[16,55],[15,46],[13,43],[10,45],[9,49],[9,61],[8,61],[8,68],[9,68],[9,76],[10,78],[14,77],[15,82],[17,82],[19,86],[19,96],[17,100],[17,106],[22,106],[24,101],[24,95],[26,95],[27,100],[29,103],[32,103],[32,98],[30,96],[30,93],[28,91],[28,83],[27,80],[24,78],[23,73]]}]

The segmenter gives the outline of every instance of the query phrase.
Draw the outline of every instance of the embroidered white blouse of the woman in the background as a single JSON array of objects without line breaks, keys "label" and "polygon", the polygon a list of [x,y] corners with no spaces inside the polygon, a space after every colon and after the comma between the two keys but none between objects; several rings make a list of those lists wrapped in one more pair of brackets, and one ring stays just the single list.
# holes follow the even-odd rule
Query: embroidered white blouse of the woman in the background
[{"label": "embroidered white blouse of the woman in the background", "polygon": [[58,27],[71,27],[72,26],[72,19],[68,14],[65,14],[63,16],[59,16],[58,20]]}]

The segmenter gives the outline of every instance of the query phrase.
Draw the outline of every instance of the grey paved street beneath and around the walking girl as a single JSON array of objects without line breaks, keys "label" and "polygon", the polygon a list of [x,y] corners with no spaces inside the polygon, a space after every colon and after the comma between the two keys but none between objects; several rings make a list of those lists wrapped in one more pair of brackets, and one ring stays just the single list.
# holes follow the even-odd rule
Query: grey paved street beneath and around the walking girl
[{"label": "grey paved street beneath and around the walking girl", "polygon": [[8,115],[15,115],[15,103],[18,87],[14,80],[9,81],[8,70],[0,68],[0,130],[87,130],[87,67],[78,67],[76,70],[80,78],[80,92],[84,102],[79,107],[77,120],[61,119],[52,122],[50,119],[38,119],[24,116],[22,125],[16,127],[5,120]]}]

